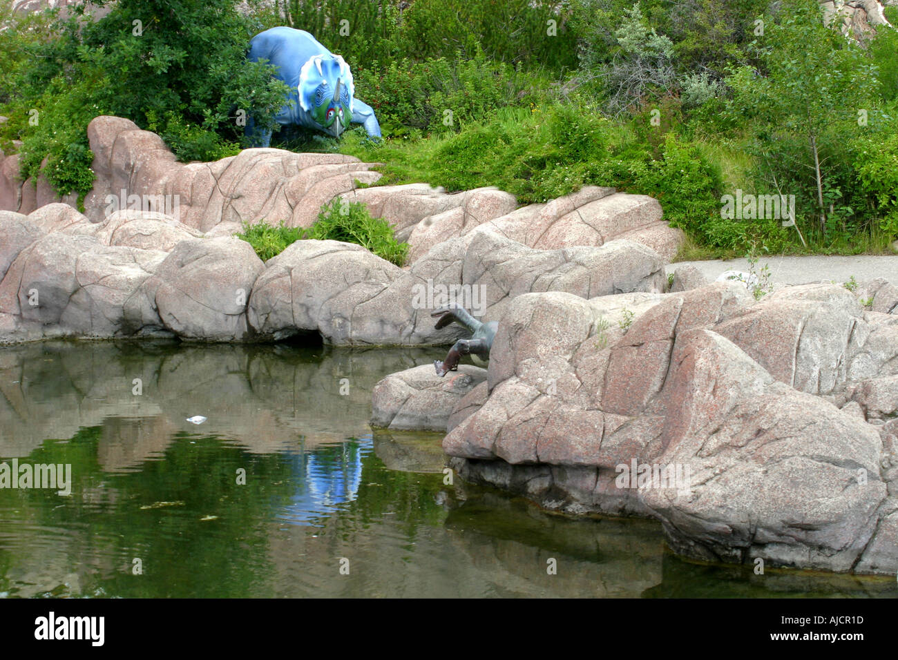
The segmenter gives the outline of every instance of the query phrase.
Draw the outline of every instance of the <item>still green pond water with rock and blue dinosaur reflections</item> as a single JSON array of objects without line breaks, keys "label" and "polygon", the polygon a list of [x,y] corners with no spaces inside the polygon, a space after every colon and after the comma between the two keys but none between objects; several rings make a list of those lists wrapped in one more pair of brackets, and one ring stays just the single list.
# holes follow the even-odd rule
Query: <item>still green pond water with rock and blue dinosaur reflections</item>
[{"label": "still green pond water with rock and blue dinosaur reflections", "polygon": [[0,596],[896,594],[892,578],[700,565],[655,522],[445,484],[441,436],[367,424],[374,383],[436,354],[0,348],[0,462],[71,465],[67,497],[0,488]]}]

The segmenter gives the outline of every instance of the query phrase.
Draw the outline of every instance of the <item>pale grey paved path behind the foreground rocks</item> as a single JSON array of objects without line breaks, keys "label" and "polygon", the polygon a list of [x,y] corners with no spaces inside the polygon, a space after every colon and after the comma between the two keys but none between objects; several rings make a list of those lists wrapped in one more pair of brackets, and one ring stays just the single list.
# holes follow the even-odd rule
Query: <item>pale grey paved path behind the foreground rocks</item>
[{"label": "pale grey paved path behind the foreground rocks", "polygon": [[[748,261],[744,259],[734,260],[710,260],[710,261],[679,261],[668,264],[665,272],[673,273],[674,268],[689,264],[699,268],[701,274],[714,281],[725,270],[748,271]],[[823,279],[832,279],[835,282],[845,282],[852,275],[855,280],[862,282],[874,277],[885,277],[889,282],[898,284],[898,254],[888,256],[857,257],[761,257],[758,267],[770,265],[770,279],[773,282],[783,284],[807,284],[819,282]]]}]

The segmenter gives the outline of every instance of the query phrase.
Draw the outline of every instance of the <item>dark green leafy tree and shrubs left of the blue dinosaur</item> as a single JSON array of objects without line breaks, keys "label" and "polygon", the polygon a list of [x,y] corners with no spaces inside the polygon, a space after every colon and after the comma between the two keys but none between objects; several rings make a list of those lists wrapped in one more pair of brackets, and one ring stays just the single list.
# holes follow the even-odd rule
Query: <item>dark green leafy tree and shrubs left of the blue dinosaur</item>
[{"label": "dark green leafy tree and shrubs left of the blue dinosaur", "polygon": [[[11,92],[0,114],[10,120],[0,126],[0,143],[22,140],[22,176],[47,157],[57,192],[89,191],[86,128],[97,115],[152,127],[180,158],[209,160],[236,152],[242,128],[234,109],[271,125],[283,105],[285,86],[271,67],[246,60],[252,29],[234,0],[119,0],[97,22],[79,20],[81,10],[40,38],[17,37],[27,63],[4,68]],[[0,59],[11,58],[0,48]]]}]

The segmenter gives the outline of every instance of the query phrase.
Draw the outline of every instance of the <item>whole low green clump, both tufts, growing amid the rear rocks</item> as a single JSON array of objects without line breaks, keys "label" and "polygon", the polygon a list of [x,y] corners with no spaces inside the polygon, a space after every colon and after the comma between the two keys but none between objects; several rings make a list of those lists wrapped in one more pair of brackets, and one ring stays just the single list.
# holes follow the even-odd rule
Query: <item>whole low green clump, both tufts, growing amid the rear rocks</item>
[{"label": "whole low green clump, both tufts, growing amid the rear rocks", "polygon": [[260,220],[256,224],[244,223],[242,233],[235,235],[250,243],[263,261],[303,240],[356,243],[397,266],[402,266],[409,256],[409,244],[396,240],[390,223],[372,217],[360,202],[341,199],[321,207],[318,220],[308,229],[287,227],[283,220],[277,226]]}]

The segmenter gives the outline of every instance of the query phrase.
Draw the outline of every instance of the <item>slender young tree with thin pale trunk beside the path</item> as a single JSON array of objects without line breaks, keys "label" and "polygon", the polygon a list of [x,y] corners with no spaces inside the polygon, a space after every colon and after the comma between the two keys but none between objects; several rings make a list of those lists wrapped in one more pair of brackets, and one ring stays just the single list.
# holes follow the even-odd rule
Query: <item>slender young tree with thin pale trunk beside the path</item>
[{"label": "slender young tree with thin pale trunk beside the path", "polygon": [[759,71],[742,66],[729,84],[734,105],[755,128],[746,146],[759,163],[759,182],[797,198],[797,224],[817,241],[864,230],[862,203],[850,194],[851,144],[876,123],[876,67],[862,48],[823,25],[815,0],[788,0],[753,44]]}]

